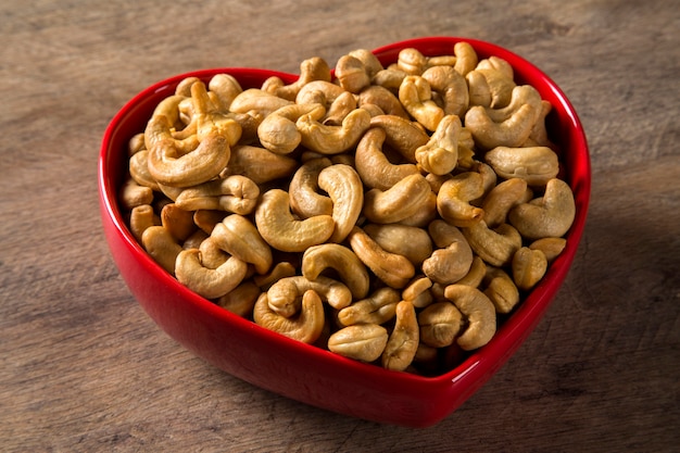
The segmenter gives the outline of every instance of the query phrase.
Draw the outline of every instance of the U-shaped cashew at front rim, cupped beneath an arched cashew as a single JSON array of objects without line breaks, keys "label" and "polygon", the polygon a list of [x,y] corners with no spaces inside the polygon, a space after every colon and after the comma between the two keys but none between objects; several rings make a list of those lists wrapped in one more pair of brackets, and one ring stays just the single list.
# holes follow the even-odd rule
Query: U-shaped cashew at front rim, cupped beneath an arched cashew
[{"label": "U-shaped cashew at front rim, cupped beneath an arched cashew", "polygon": [[295,317],[281,316],[274,312],[267,299],[267,293],[263,292],[255,302],[255,324],[304,343],[311,344],[320,337],[325,324],[324,305],[314,290],[303,293],[300,314]]}]

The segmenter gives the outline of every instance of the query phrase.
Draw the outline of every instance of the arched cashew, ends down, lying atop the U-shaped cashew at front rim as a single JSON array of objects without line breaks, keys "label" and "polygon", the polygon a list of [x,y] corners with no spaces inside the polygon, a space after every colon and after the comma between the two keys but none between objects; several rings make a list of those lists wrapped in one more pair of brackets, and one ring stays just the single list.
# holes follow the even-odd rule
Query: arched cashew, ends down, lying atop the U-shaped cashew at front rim
[{"label": "arched cashew, ends down, lying atop the U-shaped cashew at front rim", "polygon": [[281,316],[292,316],[300,307],[300,298],[312,290],[336,310],[352,303],[352,291],[342,282],[319,275],[310,280],[301,275],[281,278],[267,290],[269,307]]}]

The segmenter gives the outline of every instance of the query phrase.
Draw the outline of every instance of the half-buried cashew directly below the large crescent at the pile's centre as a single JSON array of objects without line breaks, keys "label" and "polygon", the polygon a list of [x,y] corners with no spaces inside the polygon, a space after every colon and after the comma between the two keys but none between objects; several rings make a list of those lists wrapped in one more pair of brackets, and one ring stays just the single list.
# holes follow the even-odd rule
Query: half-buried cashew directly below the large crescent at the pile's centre
[{"label": "half-buried cashew directly below the large crescent at the pile's centre", "polygon": [[432,254],[432,240],[424,228],[402,224],[367,224],[364,231],[385,251],[406,256],[419,266]]}]

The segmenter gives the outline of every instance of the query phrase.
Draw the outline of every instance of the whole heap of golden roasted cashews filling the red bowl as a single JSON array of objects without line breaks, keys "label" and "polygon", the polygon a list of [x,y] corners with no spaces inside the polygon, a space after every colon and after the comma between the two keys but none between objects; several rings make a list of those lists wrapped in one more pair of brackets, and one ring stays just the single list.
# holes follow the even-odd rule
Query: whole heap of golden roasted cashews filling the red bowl
[{"label": "whole heap of golden roasted cashews filling the red bowl", "polygon": [[[496,56],[187,77],[129,141],[121,205],[180,284],[284,336],[436,374],[487,344],[575,218],[552,106]],[[335,71],[333,71],[335,70]]]}]

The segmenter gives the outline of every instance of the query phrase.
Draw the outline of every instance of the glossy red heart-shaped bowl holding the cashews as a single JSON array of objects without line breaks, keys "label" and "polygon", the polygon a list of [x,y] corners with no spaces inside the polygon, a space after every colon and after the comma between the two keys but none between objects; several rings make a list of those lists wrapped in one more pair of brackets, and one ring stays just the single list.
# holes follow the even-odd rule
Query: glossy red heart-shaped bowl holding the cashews
[{"label": "glossy red heart-shaped bowl holding the cashews", "polygon": [[212,68],[171,77],[150,86],[112,118],[99,158],[101,218],[105,238],[122,277],[148,315],[169,337],[217,368],[254,386],[317,407],[378,423],[427,427],[446,417],[508,360],[533,330],[558,291],[574,261],[590,199],[590,158],[580,121],[563,91],[539,68],[492,43],[456,37],[426,37],[392,43],[374,51],[387,66],[401,49],[425,55],[451,54],[456,42],[469,42],[479,59],[496,55],[515,71],[518,84],[532,85],[553,104],[546,118],[551,138],[559,146],[563,178],[576,200],[576,218],[567,246],[541,282],[499,324],[484,347],[437,376],[392,372],[305,344],[241,318],[180,285],[164,272],[128,229],[118,204],[128,171],[129,139],[143,131],[155,105],[173,95],[178,83],[194,76],[207,81],[227,73],[243,88],[261,87],[273,75],[285,83],[298,76],[255,68]]}]

